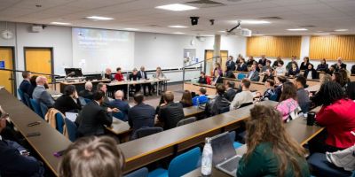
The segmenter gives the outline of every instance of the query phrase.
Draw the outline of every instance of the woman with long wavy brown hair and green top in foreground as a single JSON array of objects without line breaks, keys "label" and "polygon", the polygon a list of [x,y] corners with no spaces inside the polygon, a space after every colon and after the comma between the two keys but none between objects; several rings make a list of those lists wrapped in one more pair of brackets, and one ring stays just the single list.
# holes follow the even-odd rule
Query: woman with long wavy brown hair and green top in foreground
[{"label": "woman with long wavy brown hair and green top in foreground", "polygon": [[310,176],[305,150],[293,140],[281,121],[280,112],[255,105],[246,122],[247,153],[237,176]]}]

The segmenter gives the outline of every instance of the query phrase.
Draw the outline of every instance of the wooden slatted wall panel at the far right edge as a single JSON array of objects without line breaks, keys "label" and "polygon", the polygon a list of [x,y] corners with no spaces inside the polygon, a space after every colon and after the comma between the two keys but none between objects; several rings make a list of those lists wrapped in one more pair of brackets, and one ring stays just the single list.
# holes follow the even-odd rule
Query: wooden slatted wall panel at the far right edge
[{"label": "wooden slatted wall panel at the far right edge", "polygon": [[344,61],[355,61],[355,35],[311,37],[310,58],[335,60],[338,57]]}]

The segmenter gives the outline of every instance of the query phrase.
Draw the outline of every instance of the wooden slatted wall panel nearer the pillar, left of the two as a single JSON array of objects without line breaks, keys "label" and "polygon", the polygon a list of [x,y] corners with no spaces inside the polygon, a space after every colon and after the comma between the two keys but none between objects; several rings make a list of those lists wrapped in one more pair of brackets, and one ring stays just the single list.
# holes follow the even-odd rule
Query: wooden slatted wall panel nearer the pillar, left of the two
[{"label": "wooden slatted wall panel nearer the pillar, left of the two", "polygon": [[291,58],[300,56],[301,36],[254,36],[248,37],[247,56]]}]

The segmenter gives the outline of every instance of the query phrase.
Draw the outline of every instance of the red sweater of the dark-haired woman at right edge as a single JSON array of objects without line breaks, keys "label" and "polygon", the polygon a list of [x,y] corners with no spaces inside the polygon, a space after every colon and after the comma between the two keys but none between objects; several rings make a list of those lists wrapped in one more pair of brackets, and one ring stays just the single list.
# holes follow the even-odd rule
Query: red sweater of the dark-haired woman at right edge
[{"label": "red sweater of the dark-haired woman at right edge", "polygon": [[334,104],[322,106],[317,113],[319,125],[327,128],[327,145],[336,148],[349,148],[355,143],[355,103],[350,99],[341,99]]}]

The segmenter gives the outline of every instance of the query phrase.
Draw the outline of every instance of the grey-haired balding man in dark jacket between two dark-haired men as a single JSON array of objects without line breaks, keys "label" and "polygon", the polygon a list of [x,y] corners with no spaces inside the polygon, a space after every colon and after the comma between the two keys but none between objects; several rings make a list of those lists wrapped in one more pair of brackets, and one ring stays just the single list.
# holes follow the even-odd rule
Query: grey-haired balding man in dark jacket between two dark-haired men
[{"label": "grey-haired balding man in dark jacket between two dark-haired men", "polygon": [[117,90],[114,92],[114,100],[110,102],[109,106],[112,108],[117,108],[120,110],[122,115],[118,116],[118,119],[122,119],[123,121],[128,120],[128,111],[130,110],[130,104],[128,102],[123,101],[123,92],[121,90]]}]

